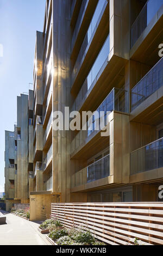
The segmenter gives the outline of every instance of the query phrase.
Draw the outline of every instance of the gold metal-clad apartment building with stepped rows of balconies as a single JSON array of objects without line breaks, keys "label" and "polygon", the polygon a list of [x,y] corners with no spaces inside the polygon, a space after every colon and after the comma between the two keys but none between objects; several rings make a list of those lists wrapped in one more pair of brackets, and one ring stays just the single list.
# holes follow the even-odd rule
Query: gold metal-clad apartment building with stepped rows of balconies
[{"label": "gold metal-clad apartment building with stepped rows of balconies", "polygon": [[[30,199],[33,219],[50,202],[161,200],[162,14],[162,0],[46,1],[34,90],[18,97],[15,133],[5,133],[6,198]],[[110,111],[109,135],[55,131],[65,107]]]}]

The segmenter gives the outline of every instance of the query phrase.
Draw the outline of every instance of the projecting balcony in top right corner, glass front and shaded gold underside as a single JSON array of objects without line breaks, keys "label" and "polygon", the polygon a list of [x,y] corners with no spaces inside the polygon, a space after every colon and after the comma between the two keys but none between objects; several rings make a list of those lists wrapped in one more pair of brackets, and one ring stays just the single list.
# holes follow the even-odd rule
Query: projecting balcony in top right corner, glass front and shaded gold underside
[{"label": "projecting balcony in top right corner, glass front and shaded gold underside", "polygon": [[130,58],[147,65],[152,64],[163,38],[163,2],[148,0],[131,27]]}]

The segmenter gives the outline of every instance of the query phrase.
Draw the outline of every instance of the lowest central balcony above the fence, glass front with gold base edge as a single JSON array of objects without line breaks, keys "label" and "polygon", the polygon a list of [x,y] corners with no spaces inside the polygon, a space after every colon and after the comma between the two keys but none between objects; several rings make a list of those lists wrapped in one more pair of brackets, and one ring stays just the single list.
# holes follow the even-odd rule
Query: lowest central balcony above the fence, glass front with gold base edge
[{"label": "lowest central balcony above the fence, glass front with gold base edge", "polygon": [[71,177],[71,192],[109,184],[110,155],[85,167]]}]

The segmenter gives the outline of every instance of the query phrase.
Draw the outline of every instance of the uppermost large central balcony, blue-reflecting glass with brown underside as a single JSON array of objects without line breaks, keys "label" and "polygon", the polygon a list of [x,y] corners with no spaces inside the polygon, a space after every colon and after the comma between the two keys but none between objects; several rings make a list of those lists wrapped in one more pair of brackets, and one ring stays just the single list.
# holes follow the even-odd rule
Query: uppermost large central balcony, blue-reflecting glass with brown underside
[{"label": "uppermost large central balcony, blue-reflecting glass with brown underside", "polygon": [[[107,7],[107,8],[106,8]],[[99,40],[99,33],[101,34]],[[72,73],[72,83],[74,87],[79,87],[84,81],[83,77],[87,70],[91,69],[103,42],[109,33],[109,3],[105,0],[99,0],[95,13],[93,14],[89,29],[80,48],[76,64]],[[95,47],[96,45],[96,47]],[[85,69],[86,66],[86,69]]]}]

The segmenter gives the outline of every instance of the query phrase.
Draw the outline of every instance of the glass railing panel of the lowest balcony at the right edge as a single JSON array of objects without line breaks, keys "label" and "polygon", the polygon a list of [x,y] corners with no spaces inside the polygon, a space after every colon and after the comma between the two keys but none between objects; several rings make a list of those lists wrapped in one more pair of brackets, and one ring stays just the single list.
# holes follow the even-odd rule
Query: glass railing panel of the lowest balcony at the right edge
[{"label": "glass railing panel of the lowest balcony at the right edge", "polygon": [[131,175],[162,167],[163,138],[131,153]]}]

